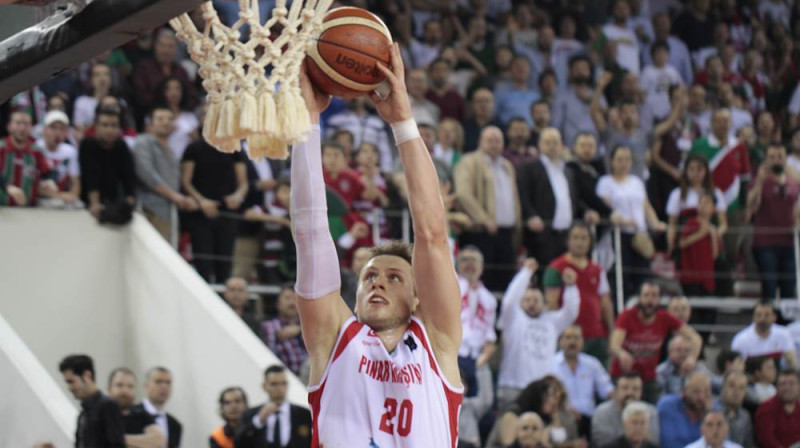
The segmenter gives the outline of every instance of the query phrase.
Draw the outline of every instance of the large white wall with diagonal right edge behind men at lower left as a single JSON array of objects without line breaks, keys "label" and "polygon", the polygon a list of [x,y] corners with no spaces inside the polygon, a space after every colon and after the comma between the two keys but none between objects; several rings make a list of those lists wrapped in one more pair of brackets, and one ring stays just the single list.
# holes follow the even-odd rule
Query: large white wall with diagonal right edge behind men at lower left
[{"label": "large white wall with diagonal right edge behind men at lower left", "polygon": [[[59,384],[69,353],[95,359],[103,388],[120,365],[140,382],[168,367],[184,447],[207,445],[223,388],[263,401],[261,372],[277,359],[141,216],[115,230],[84,212],[0,209],[0,250],[0,315]],[[289,394],[306,403],[294,378]]]}]

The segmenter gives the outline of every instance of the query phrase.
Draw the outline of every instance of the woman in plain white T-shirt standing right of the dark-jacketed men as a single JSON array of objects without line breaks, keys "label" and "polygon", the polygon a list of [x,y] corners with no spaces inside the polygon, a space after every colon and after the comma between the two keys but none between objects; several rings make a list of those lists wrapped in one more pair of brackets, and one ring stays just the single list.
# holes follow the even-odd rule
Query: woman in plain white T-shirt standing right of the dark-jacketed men
[{"label": "woman in plain white T-shirt standing right of the dark-jacketed men", "polygon": [[[616,146],[611,151],[611,174],[597,182],[596,193],[613,211],[612,223],[621,226],[621,249],[625,294],[634,294],[649,271],[650,261],[634,249],[634,236],[646,234],[648,224],[656,231],[667,230],[667,225],[658,220],[653,206],[647,199],[644,182],[630,174],[633,158],[627,146]],[[637,238],[646,239],[646,236]]]}]

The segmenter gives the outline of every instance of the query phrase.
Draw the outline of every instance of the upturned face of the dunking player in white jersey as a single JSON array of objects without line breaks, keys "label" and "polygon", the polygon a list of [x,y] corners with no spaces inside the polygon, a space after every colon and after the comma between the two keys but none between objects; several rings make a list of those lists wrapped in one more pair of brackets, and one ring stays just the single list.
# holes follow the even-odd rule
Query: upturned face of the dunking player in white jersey
[{"label": "upturned face of the dunking player in white jersey", "polygon": [[405,325],[417,308],[411,265],[400,257],[380,255],[359,276],[356,312],[375,331]]}]

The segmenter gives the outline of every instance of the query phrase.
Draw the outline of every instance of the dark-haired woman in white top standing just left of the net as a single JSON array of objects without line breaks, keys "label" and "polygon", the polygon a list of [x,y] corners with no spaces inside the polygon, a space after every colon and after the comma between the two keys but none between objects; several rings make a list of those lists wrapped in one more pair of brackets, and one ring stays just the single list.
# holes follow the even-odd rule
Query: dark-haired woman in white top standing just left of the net
[{"label": "dark-haired woman in white top standing just left of the net", "polygon": [[158,88],[156,104],[166,105],[175,117],[175,128],[167,144],[175,158],[181,160],[189,143],[197,139],[197,128],[200,126],[197,115],[189,111],[188,97],[181,80],[174,77],[165,79]]}]

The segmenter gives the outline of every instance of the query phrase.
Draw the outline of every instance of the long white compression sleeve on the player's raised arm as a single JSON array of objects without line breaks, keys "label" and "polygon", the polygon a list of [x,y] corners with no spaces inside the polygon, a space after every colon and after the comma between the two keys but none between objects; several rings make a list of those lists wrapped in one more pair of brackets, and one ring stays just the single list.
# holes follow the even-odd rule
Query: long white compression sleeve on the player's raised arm
[{"label": "long white compression sleeve on the player's raised arm", "polygon": [[292,148],[292,233],[297,247],[295,291],[317,299],[341,289],[339,256],[328,227],[319,125]]}]

